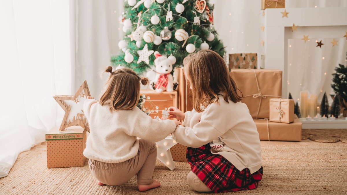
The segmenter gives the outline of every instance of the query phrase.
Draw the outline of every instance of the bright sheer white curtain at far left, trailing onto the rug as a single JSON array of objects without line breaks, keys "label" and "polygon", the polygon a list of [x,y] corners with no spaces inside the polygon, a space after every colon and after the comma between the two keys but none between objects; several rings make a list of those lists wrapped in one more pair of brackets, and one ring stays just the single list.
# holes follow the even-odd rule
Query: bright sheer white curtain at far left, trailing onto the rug
[{"label": "bright sheer white curtain at far left, trailing onto the rug", "polygon": [[0,177],[62,118],[52,96],[71,93],[69,3],[0,1]]}]

